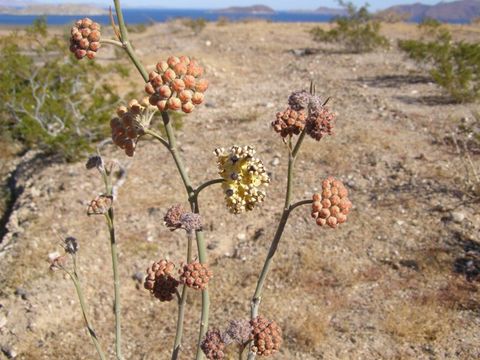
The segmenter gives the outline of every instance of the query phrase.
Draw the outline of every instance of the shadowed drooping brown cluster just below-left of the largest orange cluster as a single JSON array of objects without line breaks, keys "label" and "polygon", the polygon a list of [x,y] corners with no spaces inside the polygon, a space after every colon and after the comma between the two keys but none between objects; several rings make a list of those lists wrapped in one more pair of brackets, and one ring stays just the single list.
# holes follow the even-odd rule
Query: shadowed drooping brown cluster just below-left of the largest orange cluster
[{"label": "shadowed drooping brown cluster just below-left of the largest orange cluster", "polygon": [[145,134],[150,126],[156,108],[151,106],[147,98],[141,102],[131,100],[128,107],[121,106],[117,109],[117,117],[110,121],[112,140],[127,156],[135,154],[138,138]]}]

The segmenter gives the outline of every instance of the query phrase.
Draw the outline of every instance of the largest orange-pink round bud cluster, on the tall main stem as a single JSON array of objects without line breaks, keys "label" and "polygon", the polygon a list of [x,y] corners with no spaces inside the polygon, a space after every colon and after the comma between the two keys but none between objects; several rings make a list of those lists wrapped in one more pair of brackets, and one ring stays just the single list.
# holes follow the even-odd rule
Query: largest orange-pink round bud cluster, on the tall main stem
[{"label": "largest orange-pink round bud cluster, on the tall main stem", "polygon": [[167,61],[159,62],[145,86],[150,104],[160,111],[191,113],[196,105],[203,103],[208,88],[208,80],[202,79],[202,75],[203,68],[188,56],[170,56]]}]

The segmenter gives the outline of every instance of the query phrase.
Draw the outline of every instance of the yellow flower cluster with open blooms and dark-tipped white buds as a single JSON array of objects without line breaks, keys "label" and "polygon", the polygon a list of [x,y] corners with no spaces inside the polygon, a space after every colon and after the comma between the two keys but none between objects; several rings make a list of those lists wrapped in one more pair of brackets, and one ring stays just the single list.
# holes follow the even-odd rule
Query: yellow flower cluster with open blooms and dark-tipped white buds
[{"label": "yellow flower cluster with open blooms and dark-tipped white buds", "polygon": [[232,146],[230,150],[216,149],[220,176],[225,180],[227,207],[234,214],[253,210],[255,205],[265,199],[261,189],[267,186],[270,178],[261,160],[255,157],[251,146]]}]

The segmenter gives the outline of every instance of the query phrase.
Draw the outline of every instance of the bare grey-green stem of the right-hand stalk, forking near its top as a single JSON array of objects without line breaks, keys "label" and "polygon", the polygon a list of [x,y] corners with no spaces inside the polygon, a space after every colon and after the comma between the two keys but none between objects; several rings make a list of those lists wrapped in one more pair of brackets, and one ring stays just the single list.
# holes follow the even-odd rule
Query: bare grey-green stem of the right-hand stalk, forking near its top
[{"label": "bare grey-green stem of the right-hand stalk, forking near its top", "polygon": [[[304,202],[299,202],[294,204],[293,206],[291,205],[292,192],[293,192],[294,165],[295,165],[295,160],[298,156],[298,152],[300,151],[300,147],[302,146],[304,138],[305,138],[305,130],[301,133],[300,137],[297,140],[295,148],[293,150],[292,150],[292,142],[291,142],[292,140],[291,138],[289,139],[288,174],[287,174],[287,189],[285,193],[285,205],[283,208],[282,216],[280,218],[280,222],[278,223],[277,231],[275,232],[272,243],[270,244],[270,249],[268,250],[268,254],[263,264],[263,268],[260,273],[260,276],[258,277],[257,287],[255,288],[255,293],[251,301],[250,317],[252,320],[258,316],[260,303],[262,301],[263,287],[265,285],[267,275],[270,271],[270,266],[273,262],[273,257],[275,256],[275,253],[278,249],[278,244],[280,243],[280,240],[282,238],[283,231],[285,230],[285,225],[287,224],[288,217],[290,216],[290,213],[294,208],[296,208],[297,206],[300,206],[299,205],[300,203],[305,204]],[[255,353],[250,351],[248,354],[248,360],[253,360],[253,359],[255,359]]]}]

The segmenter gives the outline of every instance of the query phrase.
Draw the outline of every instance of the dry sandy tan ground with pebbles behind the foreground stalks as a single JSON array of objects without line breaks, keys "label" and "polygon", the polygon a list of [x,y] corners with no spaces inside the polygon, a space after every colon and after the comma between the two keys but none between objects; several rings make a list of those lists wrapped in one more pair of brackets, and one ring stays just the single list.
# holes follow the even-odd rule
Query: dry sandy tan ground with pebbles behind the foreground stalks
[{"label": "dry sandy tan ground with pebbles behind the foreground stalks", "polygon": [[[195,184],[213,179],[215,147],[254,145],[271,173],[265,203],[234,216],[219,187],[201,195],[209,262],[212,326],[247,318],[256,277],[283,205],[287,156],[270,128],[293,90],[317,84],[338,113],[335,136],[308,139],[296,164],[294,198],[310,198],[329,175],[342,179],[354,209],[338,230],[314,224],[308,208],[290,218],[265,288],[261,313],[283,329],[275,359],[480,358],[480,212],[468,186],[471,161],[447,141],[478,105],[452,104],[396,49],[410,25],[389,25],[388,51],[355,55],[312,41],[312,24],[209,24],[198,36],[181,23],[158,24],[133,41],[149,68],[187,54],[205,65],[206,105],[183,118],[181,155]],[[458,38],[478,29],[455,27]],[[321,48],[310,56],[293,49]],[[114,51],[102,49],[108,64]],[[132,78],[120,91],[138,89]],[[477,114],[478,116],[478,114]],[[176,304],[160,303],[138,278],[154,260],[184,259],[186,239],[163,226],[166,209],[185,204],[169,154],[144,141],[133,159],[108,146],[105,158],[127,169],[116,203],[126,359],[167,359]],[[20,160],[18,160],[20,161]],[[17,199],[0,245],[0,358],[93,359],[74,288],[49,271],[60,251],[55,231],[80,243],[80,275],[89,313],[113,359],[113,289],[104,221],[86,205],[101,180],[82,163],[25,158]],[[12,165],[13,166],[13,165]],[[192,359],[200,295],[188,299],[184,353]]]}]

